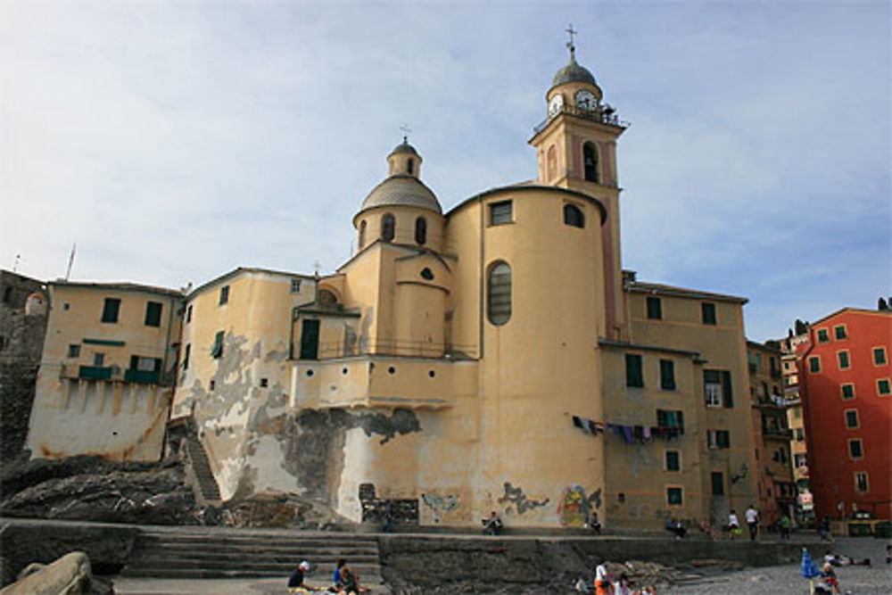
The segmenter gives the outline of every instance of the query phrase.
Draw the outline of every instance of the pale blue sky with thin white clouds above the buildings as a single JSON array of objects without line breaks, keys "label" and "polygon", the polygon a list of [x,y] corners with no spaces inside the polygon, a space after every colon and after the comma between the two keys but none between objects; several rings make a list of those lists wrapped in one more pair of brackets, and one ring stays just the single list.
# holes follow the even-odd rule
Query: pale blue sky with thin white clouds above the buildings
[{"label": "pale blue sky with thin white clouds above the buildings", "polygon": [[536,177],[569,23],[631,123],[625,269],[756,341],[892,295],[885,0],[0,0],[0,268],[332,272],[401,128],[444,211]]}]

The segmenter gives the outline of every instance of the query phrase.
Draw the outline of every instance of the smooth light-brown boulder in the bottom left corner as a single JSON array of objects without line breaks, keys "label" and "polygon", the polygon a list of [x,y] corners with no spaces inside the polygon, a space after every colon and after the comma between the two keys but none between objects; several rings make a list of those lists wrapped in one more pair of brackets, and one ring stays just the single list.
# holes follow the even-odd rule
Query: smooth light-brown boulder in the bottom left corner
[{"label": "smooth light-brown boulder in the bottom left corner", "polygon": [[52,564],[30,564],[15,583],[0,591],[2,595],[108,595],[111,586],[96,581],[90,570],[90,558],[82,551],[72,551]]}]

